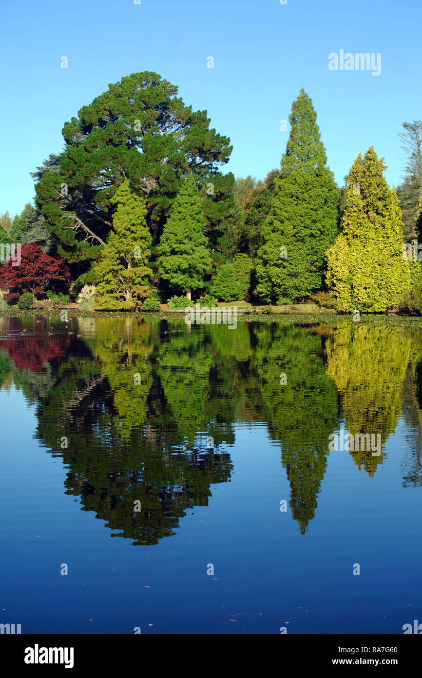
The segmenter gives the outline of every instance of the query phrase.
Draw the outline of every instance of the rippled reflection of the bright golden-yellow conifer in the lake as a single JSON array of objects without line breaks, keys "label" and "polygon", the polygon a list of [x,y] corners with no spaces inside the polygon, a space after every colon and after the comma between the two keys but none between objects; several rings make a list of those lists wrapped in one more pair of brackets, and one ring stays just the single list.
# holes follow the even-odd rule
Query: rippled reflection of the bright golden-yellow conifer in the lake
[{"label": "rippled reflection of the bright golden-yellow conifer in the lake", "polygon": [[[385,441],[394,433],[402,408],[402,388],[411,348],[402,327],[338,325],[326,340],[327,373],[342,395],[347,430],[381,433]],[[358,468],[373,476],[382,454],[351,452]]]}]

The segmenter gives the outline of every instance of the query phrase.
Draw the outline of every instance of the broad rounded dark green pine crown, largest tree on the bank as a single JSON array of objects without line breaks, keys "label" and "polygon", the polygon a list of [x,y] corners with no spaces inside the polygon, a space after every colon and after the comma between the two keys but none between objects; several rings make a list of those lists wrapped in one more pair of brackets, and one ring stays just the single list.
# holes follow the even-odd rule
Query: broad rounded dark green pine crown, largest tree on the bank
[{"label": "broad rounded dark green pine crown, largest tree on the bank", "polygon": [[[230,182],[218,173],[230,158],[230,139],[209,129],[209,124],[207,111],[192,111],[177,97],[175,85],[149,71],[108,85],[106,92],[64,123],[66,146],[59,173],[57,157],[50,157],[34,175],[39,178],[38,206],[66,259],[96,259],[112,228],[112,196],[125,177],[148,199],[146,222],[154,237],[161,234],[188,174],[194,173],[201,183],[211,176],[216,184]],[[216,212],[209,214],[210,228],[214,218],[214,226],[220,228],[228,216],[226,204],[218,201],[217,197],[212,201]],[[75,215],[83,225],[73,231]],[[89,241],[86,229],[93,234]]]}]

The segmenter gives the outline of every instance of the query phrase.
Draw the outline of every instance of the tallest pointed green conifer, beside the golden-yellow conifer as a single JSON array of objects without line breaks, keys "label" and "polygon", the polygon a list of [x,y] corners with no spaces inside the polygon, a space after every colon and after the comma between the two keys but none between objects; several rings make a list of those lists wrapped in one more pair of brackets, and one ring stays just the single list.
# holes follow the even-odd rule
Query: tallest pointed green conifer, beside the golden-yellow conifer
[{"label": "tallest pointed green conifer, beside the golden-yellow conifer", "polygon": [[339,190],[326,167],[312,100],[303,89],[289,121],[289,141],[257,253],[255,294],[266,303],[292,303],[319,290],[325,252],[337,235]]}]

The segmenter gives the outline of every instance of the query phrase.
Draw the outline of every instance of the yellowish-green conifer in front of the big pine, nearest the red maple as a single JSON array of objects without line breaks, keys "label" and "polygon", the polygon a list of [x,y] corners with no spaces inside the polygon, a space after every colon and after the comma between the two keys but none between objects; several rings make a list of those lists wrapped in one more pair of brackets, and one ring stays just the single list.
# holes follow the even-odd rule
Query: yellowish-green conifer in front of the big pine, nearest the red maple
[{"label": "yellowish-green conifer in front of the big pine, nearest the red maple", "polygon": [[112,197],[117,203],[113,231],[100,252],[96,267],[96,306],[133,308],[148,296],[148,276],[152,270],[144,265],[150,256],[151,235],[146,225],[144,198],[131,193],[125,180]]}]

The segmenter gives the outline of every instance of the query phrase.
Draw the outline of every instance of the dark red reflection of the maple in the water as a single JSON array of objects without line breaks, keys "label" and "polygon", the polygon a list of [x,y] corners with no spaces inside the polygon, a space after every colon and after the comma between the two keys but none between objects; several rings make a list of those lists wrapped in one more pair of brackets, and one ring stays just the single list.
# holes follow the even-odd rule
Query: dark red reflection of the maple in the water
[{"label": "dark red reflection of the maple in the water", "polygon": [[[19,332],[20,327],[13,327],[17,323],[10,323],[10,332]],[[0,342],[0,347],[7,351],[19,370],[33,370],[39,372],[45,361],[59,358],[66,352],[70,344],[70,337],[66,334],[57,336],[30,336],[25,334],[13,339]]]}]

